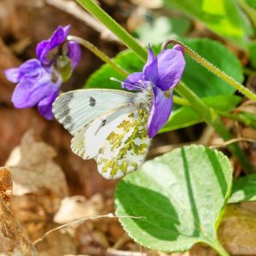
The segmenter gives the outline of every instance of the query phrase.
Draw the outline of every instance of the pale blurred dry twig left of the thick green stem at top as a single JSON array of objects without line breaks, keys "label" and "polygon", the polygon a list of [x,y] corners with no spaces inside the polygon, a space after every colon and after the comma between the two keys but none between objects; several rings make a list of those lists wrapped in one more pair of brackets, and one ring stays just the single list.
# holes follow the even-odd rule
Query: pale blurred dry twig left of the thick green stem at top
[{"label": "pale blurred dry twig left of the thick green stem at top", "polygon": [[45,0],[45,3],[54,6],[56,9],[61,9],[67,14],[73,15],[77,19],[83,21],[87,26],[90,26],[96,30],[96,32],[99,32],[102,39],[121,44],[121,41],[113,34],[113,32],[110,32],[101,22],[85,12],[84,9],[81,9],[77,3],[64,0]]}]

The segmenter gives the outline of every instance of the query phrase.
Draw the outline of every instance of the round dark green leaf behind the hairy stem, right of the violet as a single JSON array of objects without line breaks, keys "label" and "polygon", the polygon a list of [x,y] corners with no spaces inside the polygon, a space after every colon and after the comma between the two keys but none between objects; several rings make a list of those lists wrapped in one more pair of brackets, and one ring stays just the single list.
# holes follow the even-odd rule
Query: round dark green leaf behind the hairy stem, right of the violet
[{"label": "round dark green leaf behind the hairy stem, right of the violet", "polygon": [[[183,40],[196,53],[212,62],[220,70],[230,75],[238,82],[242,82],[242,67],[240,61],[236,59],[226,47],[218,42],[209,39]],[[193,61],[186,55],[186,68],[183,74],[183,81],[194,90],[198,96],[231,95],[236,90],[222,79],[207,71],[205,67]]]}]

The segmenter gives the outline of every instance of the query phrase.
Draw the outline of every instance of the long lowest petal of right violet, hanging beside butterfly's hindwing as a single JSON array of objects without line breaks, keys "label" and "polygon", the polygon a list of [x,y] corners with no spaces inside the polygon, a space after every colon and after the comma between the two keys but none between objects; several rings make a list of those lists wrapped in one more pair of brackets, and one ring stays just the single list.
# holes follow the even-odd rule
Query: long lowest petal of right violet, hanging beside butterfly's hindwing
[{"label": "long lowest petal of right violet, hanging beside butterfly's hindwing", "polygon": [[[154,137],[166,124],[172,111],[172,90],[165,92],[154,86],[154,103],[148,118],[148,137]],[[166,94],[170,94],[166,96]]]}]

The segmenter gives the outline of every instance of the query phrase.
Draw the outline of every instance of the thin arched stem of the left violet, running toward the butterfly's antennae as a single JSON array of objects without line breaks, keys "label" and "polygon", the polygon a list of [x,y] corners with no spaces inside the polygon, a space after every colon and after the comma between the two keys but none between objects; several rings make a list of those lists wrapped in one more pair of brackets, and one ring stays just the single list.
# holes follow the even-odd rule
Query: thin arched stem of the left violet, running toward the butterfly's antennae
[{"label": "thin arched stem of the left violet, running toward the butterfly's antennae", "polygon": [[102,61],[109,64],[109,66],[113,67],[114,70],[119,72],[120,74],[127,77],[129,73],[123,69],[123,67],[120,67],[116,62],[111,60],[108,55],[105,55],[100,49],[96,48],[94,44],[91,44],[90,42],[86,41],[83,38],[75,37],[75,36],[67,36],[67,40],[69,41],[75,41],[81,45],[83,45],[86,49],[89,49],[91,52],[93,52],[96,56],[98,56]]}]

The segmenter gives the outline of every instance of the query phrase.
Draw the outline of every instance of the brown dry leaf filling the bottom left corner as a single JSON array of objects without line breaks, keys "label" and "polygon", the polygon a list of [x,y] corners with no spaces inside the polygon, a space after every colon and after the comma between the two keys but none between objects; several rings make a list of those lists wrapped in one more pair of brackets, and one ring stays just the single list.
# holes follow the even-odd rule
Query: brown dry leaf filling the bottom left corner
[{"label": "brown dry leaf filling the bottom left corner", "polygon": [[31,241],[20,222],[9,211],[0,197],[0,254],[11,256],[36,255]]}]

